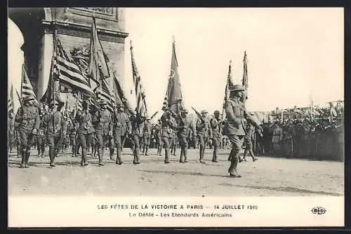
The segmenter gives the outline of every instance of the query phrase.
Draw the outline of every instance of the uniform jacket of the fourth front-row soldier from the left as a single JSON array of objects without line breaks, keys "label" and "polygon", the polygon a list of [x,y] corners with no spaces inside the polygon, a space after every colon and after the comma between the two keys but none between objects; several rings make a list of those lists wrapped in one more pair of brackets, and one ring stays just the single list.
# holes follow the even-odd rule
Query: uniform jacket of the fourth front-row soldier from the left
[{"label": "uniform jacket of the fourth front-row soldier from the left", "polygon": [[96,111],[93,114],[93,125],[95,133],[100,135],[108,135],[112,131],[112,116],[107,109],[104,111]]}]

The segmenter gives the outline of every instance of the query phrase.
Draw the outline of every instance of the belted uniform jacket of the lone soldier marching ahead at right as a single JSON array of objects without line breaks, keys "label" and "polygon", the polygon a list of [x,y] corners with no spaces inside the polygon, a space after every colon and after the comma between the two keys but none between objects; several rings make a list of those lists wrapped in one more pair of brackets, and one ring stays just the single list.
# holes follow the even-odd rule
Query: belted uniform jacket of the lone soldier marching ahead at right
[{"label": "belted uniform jacket of the lone soldier marching ahead at right", "polygon": [[225,102],[225,114],[227,122],[225,123],[225,135],[246,135],[244,130],[244,118],[254,127],[259,128],[258,123],[246,111],[243,102],[238,97],[234,97]]}]

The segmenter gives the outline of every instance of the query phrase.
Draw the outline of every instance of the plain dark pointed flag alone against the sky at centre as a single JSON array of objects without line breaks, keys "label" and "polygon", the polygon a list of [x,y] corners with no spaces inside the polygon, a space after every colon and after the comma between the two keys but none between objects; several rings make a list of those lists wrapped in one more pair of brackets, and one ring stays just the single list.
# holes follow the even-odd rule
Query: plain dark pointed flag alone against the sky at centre
[{"label": "plain dark pointed flag alone against the sky at centre", "polygon": [[184,108],[182,90],[178,74],[178,60],[176,56],[176,42],[173,38],[171,71],[168,79],[168,87],[164,97],[164,107],[168,106],[174,113],[179,113]]}]

